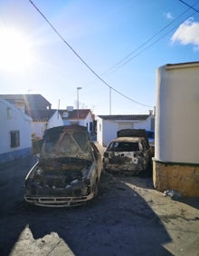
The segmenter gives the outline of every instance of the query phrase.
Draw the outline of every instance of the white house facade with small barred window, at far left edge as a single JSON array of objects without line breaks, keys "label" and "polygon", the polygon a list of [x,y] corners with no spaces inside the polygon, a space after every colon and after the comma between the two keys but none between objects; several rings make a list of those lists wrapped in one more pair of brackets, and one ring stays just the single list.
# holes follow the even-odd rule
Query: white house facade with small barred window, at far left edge
[{"label": "white house facade with small barred window, at far left edge", "polygon": [[0,97],[0,163],[32,153],[32,118]]}]

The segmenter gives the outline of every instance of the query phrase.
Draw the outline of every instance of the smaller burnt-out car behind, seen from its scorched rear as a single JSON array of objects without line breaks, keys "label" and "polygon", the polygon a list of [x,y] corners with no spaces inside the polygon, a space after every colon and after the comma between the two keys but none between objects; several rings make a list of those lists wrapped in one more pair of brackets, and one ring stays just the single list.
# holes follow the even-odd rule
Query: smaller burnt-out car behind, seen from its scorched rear
[{"label": "smaller burnt-out car behind, seen from its scorched rear", "polygon": [[138,173],[147,171],[151,151],[144,130],[124,129],[104,152],[103,168],[108,172]]}]

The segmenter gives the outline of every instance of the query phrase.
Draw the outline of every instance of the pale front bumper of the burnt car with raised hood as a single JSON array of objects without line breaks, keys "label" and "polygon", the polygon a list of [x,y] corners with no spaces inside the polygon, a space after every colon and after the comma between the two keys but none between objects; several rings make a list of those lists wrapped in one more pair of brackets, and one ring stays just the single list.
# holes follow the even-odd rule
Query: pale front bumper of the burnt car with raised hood
[{"label": "pale front bumper of the burnt car with raised hood", "polygon": [[44,207],[71,207],[78,206],[94,197],[94,192],[79,197],[55,197],[55,196],[29,196],[24,195],[25,202]]}]

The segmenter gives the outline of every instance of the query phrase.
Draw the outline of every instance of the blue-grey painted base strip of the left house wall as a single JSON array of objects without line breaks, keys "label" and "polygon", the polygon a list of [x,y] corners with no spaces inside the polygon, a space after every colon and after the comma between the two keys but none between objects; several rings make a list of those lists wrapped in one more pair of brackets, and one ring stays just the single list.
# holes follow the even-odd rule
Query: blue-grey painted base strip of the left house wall
[{"label": "blue-grey painted base strip of the left house wall", "polygon": [[16,159],[24,158],[32,154],[32,148],[25,148],[22,150],[16,150],[9,153],[1,153],[0,154],[0,164],[5,162],[11,162]]}]

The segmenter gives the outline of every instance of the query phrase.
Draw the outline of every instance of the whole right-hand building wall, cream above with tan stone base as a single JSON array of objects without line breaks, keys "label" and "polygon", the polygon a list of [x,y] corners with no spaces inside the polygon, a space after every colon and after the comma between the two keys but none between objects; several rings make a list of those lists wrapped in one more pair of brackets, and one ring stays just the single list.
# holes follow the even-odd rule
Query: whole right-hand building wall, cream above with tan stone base
[{"label": "whole right-hand building wall, cream above with tan stone base", "polygon": [[153,182],[199,196],[199,63],[170,64],[156,73]]}]

